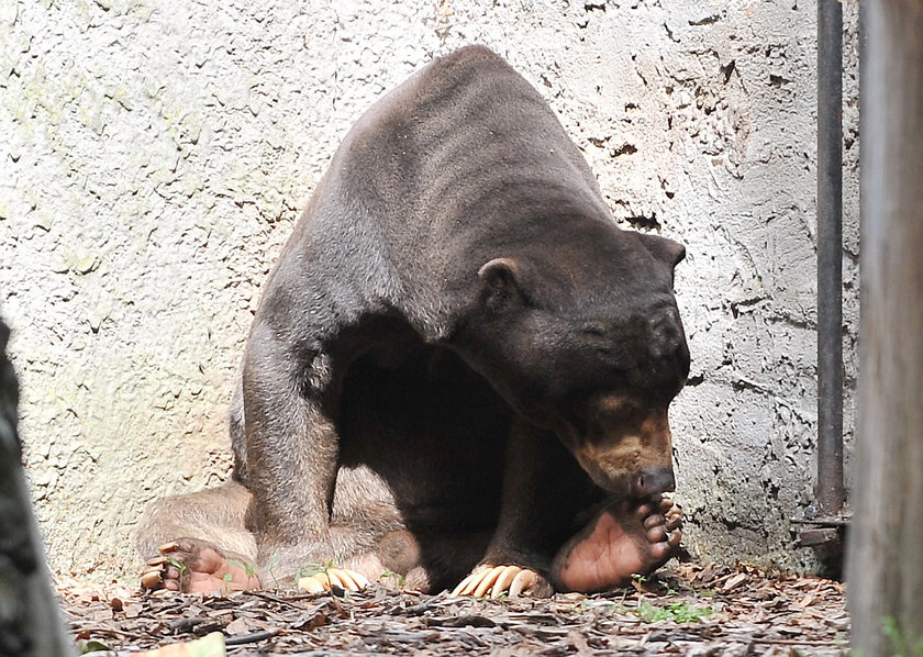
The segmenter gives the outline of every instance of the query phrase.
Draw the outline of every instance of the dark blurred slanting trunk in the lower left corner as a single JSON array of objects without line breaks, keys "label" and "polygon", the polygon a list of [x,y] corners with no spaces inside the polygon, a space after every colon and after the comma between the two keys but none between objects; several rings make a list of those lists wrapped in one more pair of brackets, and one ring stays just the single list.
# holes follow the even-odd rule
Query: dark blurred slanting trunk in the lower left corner
[{"label": "dark blurred slanting trunk in the lower left corner", "polygon": [[0,657],[70,655],[52,595],[16,436],[19,388],[0,321]]}]

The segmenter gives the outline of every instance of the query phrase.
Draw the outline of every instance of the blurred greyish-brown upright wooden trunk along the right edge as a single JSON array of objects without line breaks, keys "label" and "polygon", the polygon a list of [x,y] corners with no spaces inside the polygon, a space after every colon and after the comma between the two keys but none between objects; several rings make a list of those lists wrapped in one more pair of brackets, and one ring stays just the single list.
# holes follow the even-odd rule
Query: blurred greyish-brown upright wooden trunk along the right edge
[{"label": "blurred greyish-brown upright wooden trunk along the right edge", "polygon": [[[826,0],[821,0],[826,1]],[[853,646],[923,655],[923,0],[866,7]]]}]

